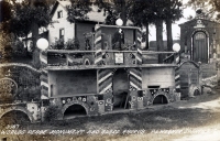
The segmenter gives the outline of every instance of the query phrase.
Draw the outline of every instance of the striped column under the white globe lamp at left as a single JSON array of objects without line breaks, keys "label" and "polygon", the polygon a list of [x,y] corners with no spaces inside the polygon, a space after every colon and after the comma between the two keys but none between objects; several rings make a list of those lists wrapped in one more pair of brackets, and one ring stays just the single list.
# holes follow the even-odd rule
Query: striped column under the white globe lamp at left
[{"label": "striped column under the white globe lamp at left", "polygon": [[40,61],[41,61],[41,68],[42,68],[42,74],[40,77],[41,80],[41,94],[42,94],[42,99],[47,99],[48,98],[48,72],[45,70],[44,68],[47,66],[47,53],[41,52],[40,53]]}]

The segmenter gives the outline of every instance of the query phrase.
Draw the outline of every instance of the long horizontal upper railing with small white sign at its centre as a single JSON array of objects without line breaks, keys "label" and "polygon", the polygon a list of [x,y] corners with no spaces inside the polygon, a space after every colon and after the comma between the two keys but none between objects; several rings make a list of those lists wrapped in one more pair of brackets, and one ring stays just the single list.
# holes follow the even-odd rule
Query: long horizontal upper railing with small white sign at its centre
[{"label": "long horizontal upper railing with small white sign at its centre", "polygon": [[[101,56],[101,65],[140,65],[138,63],[138,51],[116,51],[102,50],[99,52]],[[141,64],[173,64],[175,52],[141,52]],[[160,61],[160,55],[162,61]],[[48,50],[48,66],[78,66],[78,65],[97,65],[96,51],[67,51],[67,50]],[[140,59],[139,59],[140,61]],[[99,64],[100,65],[100,64]]]}]

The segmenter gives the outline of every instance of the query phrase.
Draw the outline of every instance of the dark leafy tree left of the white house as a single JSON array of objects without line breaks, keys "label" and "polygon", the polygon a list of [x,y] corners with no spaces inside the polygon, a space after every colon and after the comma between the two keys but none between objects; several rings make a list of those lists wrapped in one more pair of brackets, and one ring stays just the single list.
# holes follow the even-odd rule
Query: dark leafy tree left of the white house
[{"label": "dark leafy tree left of the white house", "polygon": [[18,36],[26,36],[32,33],[33,51],[38,39],[38,28],[46,26],[51,22],[50,6],[45,0],[28,0],[14,3],[14,18],[11,20],[11,32]]}]

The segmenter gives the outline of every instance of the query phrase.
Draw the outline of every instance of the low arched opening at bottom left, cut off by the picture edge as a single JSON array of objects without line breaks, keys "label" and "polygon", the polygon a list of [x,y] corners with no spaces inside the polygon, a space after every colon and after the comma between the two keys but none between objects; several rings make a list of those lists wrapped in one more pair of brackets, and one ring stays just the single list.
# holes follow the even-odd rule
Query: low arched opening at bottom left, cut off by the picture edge
[{"label": "low arched opening at bottom left, cut off by the picture edge", "polygon": [[6,112],[1,119],[0,123],[2,127],[6,127],[7,124],[29,124],[31,122],[29,116],[21,111],[21,110],[11,110],[9,112]]}]

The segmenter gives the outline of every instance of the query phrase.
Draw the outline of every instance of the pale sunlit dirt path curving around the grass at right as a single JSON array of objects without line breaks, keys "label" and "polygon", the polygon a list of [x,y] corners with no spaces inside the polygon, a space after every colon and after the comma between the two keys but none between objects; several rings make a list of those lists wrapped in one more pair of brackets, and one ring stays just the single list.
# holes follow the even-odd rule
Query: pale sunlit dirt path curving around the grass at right
[{"label": "pale sunlit dirt path curving around the grass at right", "polygon": [[[215,117],[205,126],[198,126],[195,128],[178,128],[176,130],[156,130],[144,134],[131,134],[129,137],[122,137],[112,141],[220,141],[220,90],[215,94],[207,94],[207,91],[190,100],[183,100],[167,106],[152,107],[155,110],[163,110],[164,108],[177,108],[177,109],[200,109],[204,112],[209,112]],[[205,117],[195,117],[198,119]],[[180,119],[182,120],[182,119]]]}]

